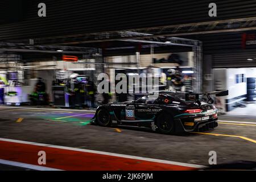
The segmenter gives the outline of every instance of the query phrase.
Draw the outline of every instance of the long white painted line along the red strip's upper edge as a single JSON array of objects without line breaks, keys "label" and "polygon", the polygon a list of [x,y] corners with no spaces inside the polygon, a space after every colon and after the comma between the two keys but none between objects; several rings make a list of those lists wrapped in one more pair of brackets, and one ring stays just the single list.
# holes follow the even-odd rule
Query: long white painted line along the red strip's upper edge
[{"label": "long white painted line along the red strip's upper edge", "polygon": [[142,161],[145,161],[145,162],[170,164],[170,165],[180,166],[180,167],[205,168],[205,166],[201,166],[201,165],[197,165],[197,164],[189,164],[189,163],[173,162],[173,161],[169,161],[169,160],[160,160],[160,159],[144,158],[144,157],[140,157],[140,156],[132,156],[132,155],[125,155],[125,154],[116,154],[116,153],[112,153],[112,152],[103,152],[103,151],[87,150],[87,149],[82,149],[82,148],[55,146],[55,145],[51,145],[51,144],[36,143],[36,142],[26,142],[26,141],[22,141],[22,140],[14,140],[14,139],[0,138],[0,141],[3,141],[3,142],[13,142],[13,143],[20,143],[20,144],[29,144],[29,145],[32,145],[32,146],[42,146],[42,147],[49,147],[49,148],[55,148],[55,149],[58,148],[58,149],[69,150],[69,151],[86,152],[86,153],[90,153],[90,154],[100,154],[100,155],[105,155],[105,156],[113,156],[113,157],[126,158],[126,159],[142,160]]}]

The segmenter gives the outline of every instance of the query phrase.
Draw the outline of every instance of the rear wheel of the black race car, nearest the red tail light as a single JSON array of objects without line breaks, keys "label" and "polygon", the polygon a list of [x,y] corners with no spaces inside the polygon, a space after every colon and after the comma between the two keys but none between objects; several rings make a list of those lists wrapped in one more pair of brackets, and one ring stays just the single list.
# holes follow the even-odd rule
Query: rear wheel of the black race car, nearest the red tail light
[{"label": "rear wheel of the black race car, nearest the red tail light", "polygon": [[170,114],[161,113],[156,118],[156,126],[159,133],[171,134],[174,133],[174,119]]}]

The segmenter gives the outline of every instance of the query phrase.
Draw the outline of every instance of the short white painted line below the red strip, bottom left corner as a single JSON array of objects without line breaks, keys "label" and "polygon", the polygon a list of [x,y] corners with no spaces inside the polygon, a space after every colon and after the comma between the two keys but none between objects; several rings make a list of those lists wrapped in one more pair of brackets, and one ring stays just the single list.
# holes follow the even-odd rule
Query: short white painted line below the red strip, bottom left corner
[{"label": "short white painted line below the red strip, bottom left corner", "polygon": [[55,168],[43,167],[43,166],[36,166],[36,165],[33,165],[33,164],[19,163],[19,162],[14,162],[14,161],[10,161],[10,160],[3,160],[3,159],[0,159],[0,164],[5,164],[7,166],[15,166],[15,167],[33,169],[33,170],[36,170],[36,171],[63,171],[61,169],[55,169]]}]

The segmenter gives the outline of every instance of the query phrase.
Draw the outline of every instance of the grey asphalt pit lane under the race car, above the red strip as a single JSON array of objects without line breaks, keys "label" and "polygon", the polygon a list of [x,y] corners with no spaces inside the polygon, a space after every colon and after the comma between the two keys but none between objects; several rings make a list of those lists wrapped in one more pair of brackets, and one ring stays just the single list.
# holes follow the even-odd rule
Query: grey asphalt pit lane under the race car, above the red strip
[{"label": "grey asphalt pit lane under the race car, above the red strip", "polygon": [[[241,123],[219,122],[219,126],[214,130],[183,135],[163,135],[150,130],[126,127],[115,129],[94,126],[87,122],[92,117],[92,111],[84,110],[0,107],[0,138],[205,166],[209,164],[209,151],[217,152],[218,164],[236,160],[256,161],[256,116],[254,115],[220,115],[221,121],[251,123],[241,125]],[[5,167],[0,165],[0,170]]]}]

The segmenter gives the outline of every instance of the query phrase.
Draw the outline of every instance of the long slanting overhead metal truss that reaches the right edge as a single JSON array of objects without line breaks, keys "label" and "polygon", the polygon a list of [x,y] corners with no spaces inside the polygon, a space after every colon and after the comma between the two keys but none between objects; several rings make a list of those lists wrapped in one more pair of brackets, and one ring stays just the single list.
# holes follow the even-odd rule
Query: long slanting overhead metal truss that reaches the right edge
[{"label": "long slanting overhead metal truss that reaches the right edge", "polygon": [[208,22],[174,24],[170,26],[134,28],[126,31],[108,31],[34,39],[35,44],[81,44],[107,40],[152,38],[155,36],[184,36],[221,32],[256,30],[256,17],[214,20]]}]

